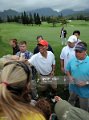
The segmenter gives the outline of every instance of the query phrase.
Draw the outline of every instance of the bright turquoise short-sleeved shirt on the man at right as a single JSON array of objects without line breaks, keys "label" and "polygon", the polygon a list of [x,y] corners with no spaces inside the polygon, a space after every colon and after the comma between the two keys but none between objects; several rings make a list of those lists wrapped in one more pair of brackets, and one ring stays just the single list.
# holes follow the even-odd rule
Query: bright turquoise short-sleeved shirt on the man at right
[{"label": "bright turquoise short-sleeved shirt on the man at right", "polygon": [[74,57],[69,61],[66,69],[74,78],[74,83],[70,83],[69,90],[75,92],[82,98],[89,98],[89,85],[82,87],[76,85],[76,82],[79,81],[89,81],[89,56],[86,56],[82,61]]}]

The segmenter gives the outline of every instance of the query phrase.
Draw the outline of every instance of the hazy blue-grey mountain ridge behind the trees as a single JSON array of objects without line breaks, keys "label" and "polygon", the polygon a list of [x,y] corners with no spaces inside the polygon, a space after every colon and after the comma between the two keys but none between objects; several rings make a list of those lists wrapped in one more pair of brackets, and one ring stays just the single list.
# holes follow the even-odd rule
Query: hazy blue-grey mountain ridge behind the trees
[{"label": "hazy blue-grey mountain ridge behind the trees", "polygon": [[[28,14],[29,13],[38,13],[40,16],[58,16],[58,15],[63,15],[63,16],[78,16],[78,15],[84,15],[84,16],[89,16],[89,9],[85,9],[83,11],[74,11],[72,9],[64,9],[60,12],[57,12],[51,8],[40,8],[40,9],[35,9],[35,10],[30,10],[26,11]],[[1,18],[6,18],[8,16],[17,16],[20,15],[21,12],[8,9],[4,10],[3,12],[0,12],[0,17]]]}]

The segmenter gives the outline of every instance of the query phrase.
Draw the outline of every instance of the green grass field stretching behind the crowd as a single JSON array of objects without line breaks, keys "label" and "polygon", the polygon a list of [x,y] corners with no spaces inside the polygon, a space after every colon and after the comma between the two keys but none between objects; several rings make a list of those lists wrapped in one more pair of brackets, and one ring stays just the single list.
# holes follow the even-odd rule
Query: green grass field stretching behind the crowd
[{"label": "green grass field stretching behind the crowd", "polygon": [[[9,41],[12,38],[17,38],[18,41],[26,40],[28,42],[28,50],[33,52],[36,46],[36,36],[42,35],[54,50],[56,57],[56,75],[60,75],[59,67],[59,55],[62,49],[60,40],[61,25],[57,24],[56,27],[52,27],[52,24],[42,23],[41,26],[27,26],[16,23],[3,23],[0,24],[0,57],[6,54],[11,54],[12,49],[9,46]],[[72,21],[67,26],[67,38],[72,34],[74,30],[80,30],[80,39],[86,41],[89,44],[89,22],[85,21]]]}]

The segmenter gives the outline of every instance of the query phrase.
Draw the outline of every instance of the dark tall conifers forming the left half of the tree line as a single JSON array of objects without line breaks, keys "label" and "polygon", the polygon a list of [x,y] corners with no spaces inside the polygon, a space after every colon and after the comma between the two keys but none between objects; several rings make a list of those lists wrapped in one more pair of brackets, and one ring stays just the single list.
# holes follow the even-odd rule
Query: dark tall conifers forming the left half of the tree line
[{"label": "dark tall conifers forming the left half of the tree line", "polygon": [[31,13],[27,14],[25,11],[18,16],[9,16],[7,15],[7,18],[4,20],[0,17],[0,23],[2,22],[16,22],[16,23],[22,23],[22,24],[37,24],[40,25],[41,24],[41,17],[39,16],[38,13],[34,13],[34,15],[32,15]]}]

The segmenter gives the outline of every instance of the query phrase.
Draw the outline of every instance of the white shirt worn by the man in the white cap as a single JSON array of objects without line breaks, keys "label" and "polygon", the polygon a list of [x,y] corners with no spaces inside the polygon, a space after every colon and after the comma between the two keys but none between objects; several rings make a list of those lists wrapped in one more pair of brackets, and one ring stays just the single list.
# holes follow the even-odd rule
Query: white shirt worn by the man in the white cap
[{"label": "white shirt worn by the man in the white cap", "polygon": [[74,48],[70,48],[68,45],[65,46],[62,51],[61,51],[61,54],[60,54],[60,59],[61,60],[64,60],[64,69],[66,71],[66,66],[67,66],[67,63],[69,62],[69,60],[71,58],[73,58],[75,56],[75,51],[74,51]]}]

